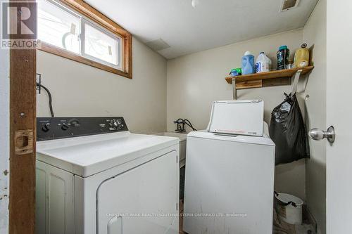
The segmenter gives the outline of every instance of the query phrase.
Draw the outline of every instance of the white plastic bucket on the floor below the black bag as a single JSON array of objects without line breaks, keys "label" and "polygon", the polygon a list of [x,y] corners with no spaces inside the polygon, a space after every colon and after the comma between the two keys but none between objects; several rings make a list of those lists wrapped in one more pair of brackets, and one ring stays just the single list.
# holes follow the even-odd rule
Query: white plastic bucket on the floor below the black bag
[{"label": "white plastic bucket on the floor below the black bag", "polygon": [[275,193],[276,212],[283,221],[302,224],[303,200],[287,193]]}]

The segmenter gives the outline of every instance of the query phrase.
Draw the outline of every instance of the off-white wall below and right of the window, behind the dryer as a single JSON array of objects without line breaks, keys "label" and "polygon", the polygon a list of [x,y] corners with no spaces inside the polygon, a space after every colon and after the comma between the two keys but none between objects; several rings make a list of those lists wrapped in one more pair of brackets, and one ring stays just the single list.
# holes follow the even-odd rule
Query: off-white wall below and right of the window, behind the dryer
[{"label": "off-white wall below and right of the window, behind the dryer", "polygon": [[[38,51],[37,72],[51,91],[55,115],[122,116],[132,132],[165,131],[166,60],[134,38],[132,51],[133,79]],[[50,116],[44,90],[37,116]]]}]

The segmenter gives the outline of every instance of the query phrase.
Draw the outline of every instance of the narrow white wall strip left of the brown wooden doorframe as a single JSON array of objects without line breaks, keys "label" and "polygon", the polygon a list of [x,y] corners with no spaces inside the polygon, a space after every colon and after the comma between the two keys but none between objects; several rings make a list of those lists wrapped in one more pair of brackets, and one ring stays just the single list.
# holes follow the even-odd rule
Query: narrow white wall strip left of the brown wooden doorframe
[{"label": "narrow white wall strip left of the brown wooden doorframe", "polygon": [[[1,4],[1,2],[0,2]],[[10,129],[9,129],[9,66],[8,50],[0,49],[0,233],[8,233],[8,179],[10,174]]]}]

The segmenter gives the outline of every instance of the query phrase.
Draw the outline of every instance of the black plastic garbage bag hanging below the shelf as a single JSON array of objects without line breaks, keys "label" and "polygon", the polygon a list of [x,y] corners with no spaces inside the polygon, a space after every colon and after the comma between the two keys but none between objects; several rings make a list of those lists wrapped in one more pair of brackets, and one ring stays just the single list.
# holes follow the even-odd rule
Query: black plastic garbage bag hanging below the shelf
[{"label": "black plastic garbage bag hanging below the shelf", "polygon": [[274,141],[275,165],[310,157],[306,126],[296,94],[287,95],[271,113],[270,138]]}]

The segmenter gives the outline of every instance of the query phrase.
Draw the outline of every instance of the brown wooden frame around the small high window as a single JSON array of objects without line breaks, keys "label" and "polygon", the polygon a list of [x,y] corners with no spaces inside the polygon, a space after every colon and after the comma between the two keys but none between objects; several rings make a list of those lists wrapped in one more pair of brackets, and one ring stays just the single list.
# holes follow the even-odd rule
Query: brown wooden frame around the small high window
[{"label": "brown wooden frame around the small high window", "polygon": [[132,34],[82,0],[58,0],[58,3],[68,6],[68,8],[77,11],[77,13],[92,20],[97,25],[103,27],[103,29],[108,30],[108,32],[122,38],[122,70],[90,60],[89,58],[84,58],[77,53],[66,51],[63,48],[58,48],[44,41],[38,41],[37,49],[132,79]]}]

